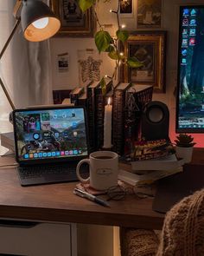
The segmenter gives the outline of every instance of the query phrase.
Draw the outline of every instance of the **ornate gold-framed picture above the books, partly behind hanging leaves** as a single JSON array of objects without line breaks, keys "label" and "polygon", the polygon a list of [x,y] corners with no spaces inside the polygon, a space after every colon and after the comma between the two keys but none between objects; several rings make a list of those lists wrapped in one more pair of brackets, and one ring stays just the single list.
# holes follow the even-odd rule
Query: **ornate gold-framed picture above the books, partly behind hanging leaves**
[{"label": "ornate gold-framed picture above the books, partly behind hanging leaves", "polygon": [[131,33],[124,43],[124,54],[143,64],[130,68],[124,64],[120,71],[122,82],[150,84],[154,92],[165,92],[166,31],[138,31]]}]

